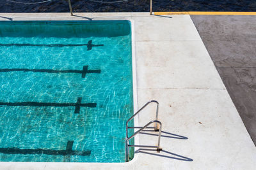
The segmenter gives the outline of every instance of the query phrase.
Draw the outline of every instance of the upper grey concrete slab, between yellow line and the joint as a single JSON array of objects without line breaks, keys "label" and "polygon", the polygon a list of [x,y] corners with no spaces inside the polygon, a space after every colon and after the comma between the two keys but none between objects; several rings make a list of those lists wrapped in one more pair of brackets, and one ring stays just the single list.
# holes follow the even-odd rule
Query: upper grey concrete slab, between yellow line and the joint
[{"label": "upper grey concrete slab, between yellow line and the joint", "polygon": [[217,67],[256,66],[256,17],[191,15]]}]

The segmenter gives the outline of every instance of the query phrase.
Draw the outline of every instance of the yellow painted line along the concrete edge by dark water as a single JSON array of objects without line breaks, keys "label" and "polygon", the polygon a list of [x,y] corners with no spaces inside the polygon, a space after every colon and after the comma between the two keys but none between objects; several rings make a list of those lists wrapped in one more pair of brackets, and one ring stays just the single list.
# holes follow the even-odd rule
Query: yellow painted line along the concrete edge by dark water
[{"label": "yellow painted line along the concrete edge by dark water", "polygon": [[211,12],[211,11],[154,12],[154,15],[256,15],[256,12]]}]

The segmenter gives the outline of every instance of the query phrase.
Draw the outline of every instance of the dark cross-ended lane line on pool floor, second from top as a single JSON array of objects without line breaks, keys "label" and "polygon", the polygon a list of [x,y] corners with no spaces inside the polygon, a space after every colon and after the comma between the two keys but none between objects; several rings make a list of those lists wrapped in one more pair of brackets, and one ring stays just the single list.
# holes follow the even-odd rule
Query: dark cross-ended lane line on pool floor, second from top
[{"label": "dark cross-ended lane line on pool floor, second from top", "polygon": [[54,70],[54,69],[0,69],[0,72],[13,72],[13,71],[23,71],[23,72],[35,72],[35,73],[79,73],[82,74],[82,78],[85,78],[87,73],[101,73],[100,69],[89,70],[88,66],[83,66],[83,70],[68,69],[68,70]]}]

